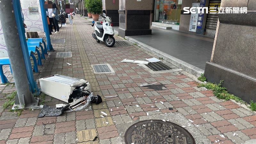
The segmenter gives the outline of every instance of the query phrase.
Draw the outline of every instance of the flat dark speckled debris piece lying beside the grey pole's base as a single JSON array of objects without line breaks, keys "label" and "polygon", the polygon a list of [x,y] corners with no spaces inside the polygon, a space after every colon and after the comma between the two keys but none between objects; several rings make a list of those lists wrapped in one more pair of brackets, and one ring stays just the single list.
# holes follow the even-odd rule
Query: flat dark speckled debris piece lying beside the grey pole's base
[{"label": "flat dark speckled debris piece lying beside the grey pole's base", "polygon": [[66,105],[62,108],[52,108],[48,105],[44,105],[43,109],[40,111],[38,117],[54,117],[54,116],[60,116],[64,112],[66,108],[68,108],[70,105]]}]

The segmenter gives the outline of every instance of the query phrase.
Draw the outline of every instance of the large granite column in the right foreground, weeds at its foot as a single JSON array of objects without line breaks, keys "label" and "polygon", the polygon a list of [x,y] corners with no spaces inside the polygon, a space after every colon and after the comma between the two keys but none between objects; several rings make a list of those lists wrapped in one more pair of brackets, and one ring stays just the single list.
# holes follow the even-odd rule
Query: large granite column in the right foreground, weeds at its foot
[{"label": "large granite column in the right foreground, weeds at its foot", "polygon": [[222,0],[221,7],[247,7],[247,14],[219,14],[208,81],[220,82],[244,101],[256,101],[256,1]]}]

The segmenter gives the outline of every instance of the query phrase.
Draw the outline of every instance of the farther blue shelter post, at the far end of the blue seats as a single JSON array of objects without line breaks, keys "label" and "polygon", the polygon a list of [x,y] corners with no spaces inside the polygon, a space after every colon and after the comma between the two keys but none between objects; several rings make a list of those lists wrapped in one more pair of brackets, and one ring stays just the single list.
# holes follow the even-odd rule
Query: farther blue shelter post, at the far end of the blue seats
[{"label": "farther blue shelter post, at the far end of the blue seats", "polygon": [[41,9],[42,21],[43,21],[43,26],[44,26],[44,33],[45,33],[46,41],[47,41],[47,51],[54,51],[54,49],[52,48],[52,44],[51,44],[46,11],[44,9],[44,0],[39,0],[39,2],[40,2],[40,9]]}]

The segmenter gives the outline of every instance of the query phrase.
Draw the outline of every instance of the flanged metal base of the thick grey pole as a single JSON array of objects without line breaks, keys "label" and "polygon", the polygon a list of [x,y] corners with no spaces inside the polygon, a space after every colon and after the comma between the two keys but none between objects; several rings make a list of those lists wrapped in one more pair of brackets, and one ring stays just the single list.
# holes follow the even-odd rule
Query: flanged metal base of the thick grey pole
[{"label": "flanged metal base of the thick grey pole", "polygon": [[18,94],[15,97],[15,103],[12,106],[12,110],[19,109],[38,109],[39,98],[35,98],[32,93],[30,94],[31,103],[26,104],[24,100],[24,95],[22,97],[18,97]]}]

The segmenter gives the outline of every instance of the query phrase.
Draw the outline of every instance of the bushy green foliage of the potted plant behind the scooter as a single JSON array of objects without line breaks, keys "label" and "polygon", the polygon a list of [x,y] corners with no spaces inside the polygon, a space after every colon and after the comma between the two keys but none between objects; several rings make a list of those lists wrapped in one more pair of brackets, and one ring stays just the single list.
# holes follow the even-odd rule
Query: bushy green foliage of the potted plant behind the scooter
[{"label": "bushy green foliage of the potted plant behind the scooter", "polygon": [[88,12],[100,14],[102,11],[102,0],[85,0],[85,7]]}]

